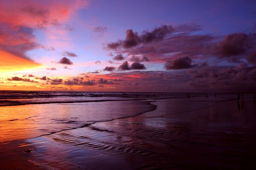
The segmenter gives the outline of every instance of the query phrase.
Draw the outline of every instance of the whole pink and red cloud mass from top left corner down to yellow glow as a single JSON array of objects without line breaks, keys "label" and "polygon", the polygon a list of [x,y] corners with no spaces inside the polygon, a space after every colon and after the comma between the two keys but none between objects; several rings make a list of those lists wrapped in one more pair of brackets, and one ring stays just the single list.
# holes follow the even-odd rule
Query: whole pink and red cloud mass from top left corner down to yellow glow
[{"label": "whole pink and red cloud mass from top left corner down to yellow glow", "polygon": [[[54,3],[50,0],[0,1],[0,51],[32,61],[26,55],[27,51],[41,48],[34,31],[49,26],[60,27],[78,9],[87,5],[87,1],[80,0]],[[49,47],[48,50],[53,49]]]}]

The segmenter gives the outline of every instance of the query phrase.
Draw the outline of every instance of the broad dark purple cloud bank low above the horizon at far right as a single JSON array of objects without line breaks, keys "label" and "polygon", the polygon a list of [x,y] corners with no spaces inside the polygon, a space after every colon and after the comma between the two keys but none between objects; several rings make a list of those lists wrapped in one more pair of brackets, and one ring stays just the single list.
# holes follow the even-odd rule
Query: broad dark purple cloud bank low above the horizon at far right
[{"label": "broad dark purple cloud bank low above the horizon at far right", "polygon": [[205,66],[188,71],[191,79],[187,85],[197,89],[222,89],[224,91],[255,91],[256,67],[241,63],[237,67]]}]

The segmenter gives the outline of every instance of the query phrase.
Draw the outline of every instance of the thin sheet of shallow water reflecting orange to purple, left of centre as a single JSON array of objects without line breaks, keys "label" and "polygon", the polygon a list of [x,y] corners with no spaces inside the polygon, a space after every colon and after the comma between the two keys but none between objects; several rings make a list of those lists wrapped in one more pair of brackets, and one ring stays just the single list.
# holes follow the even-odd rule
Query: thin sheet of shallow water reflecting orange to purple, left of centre
[{"label": "thin sheet of shallow water reflecting orange to purple, left of centre", "polygon": [[154,109],[154,105],[143,101],[4,106],[0,107],[0,142],[34,138]]}]

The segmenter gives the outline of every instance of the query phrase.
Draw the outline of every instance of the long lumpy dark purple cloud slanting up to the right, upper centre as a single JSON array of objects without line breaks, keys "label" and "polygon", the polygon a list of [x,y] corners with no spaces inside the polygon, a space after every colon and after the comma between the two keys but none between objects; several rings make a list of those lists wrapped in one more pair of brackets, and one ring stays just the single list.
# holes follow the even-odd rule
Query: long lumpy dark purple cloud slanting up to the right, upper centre
[{"label": "long lumpy dark purple cloud slanting up to the right, upper centre", "polygon": [[172,34],[174,28],[172,26],[160,26],[154,28],[153,31],[145,30],[142,34],[134,32],[132,29],[126,31],[125,40],[118,40],[117,42],[111,42],[107,44],[107,48],[116,49],[122,48],[132,48],[140,44],[146,44],[153,41],[163,40],[167,35]]}]

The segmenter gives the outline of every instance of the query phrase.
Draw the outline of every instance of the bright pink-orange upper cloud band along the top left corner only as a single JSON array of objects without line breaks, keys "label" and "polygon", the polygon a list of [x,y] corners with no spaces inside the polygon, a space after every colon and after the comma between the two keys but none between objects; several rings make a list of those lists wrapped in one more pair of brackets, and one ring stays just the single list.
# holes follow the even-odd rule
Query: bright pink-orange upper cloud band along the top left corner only
[{"label": "bright pink-orange upper cloud band along the top left corner only", "polygon": [[87,6],[84,0],[8,0],[0,2],[0,23],[13,27],[57,26],[76,9]]}]

